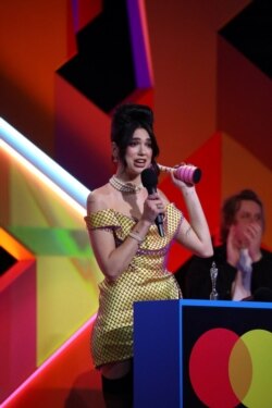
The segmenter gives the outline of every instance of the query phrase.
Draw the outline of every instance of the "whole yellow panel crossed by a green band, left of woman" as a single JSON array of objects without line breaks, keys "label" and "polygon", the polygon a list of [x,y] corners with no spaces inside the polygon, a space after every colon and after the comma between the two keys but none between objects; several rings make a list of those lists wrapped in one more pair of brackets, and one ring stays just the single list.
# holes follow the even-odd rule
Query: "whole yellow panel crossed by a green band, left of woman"
[{"label": "whole yellow panel crossed by a green band, left of woman", "polygon": [[[2,150],[1,150],[2,152]],[[37,366],[78,330],[98,308],[102,274],[95,261],[82,208],[57,193],[16,154],[3,151],[1,185],[9,210],[1,211],[4,247],[17,259],[37,260]],[[85,212],[85,210],[83,209]],[[14,245],[18,240],[20,245]],[[8,247],[7,247],[8,246]],[[23,250],[23,247],[27,250]],[[20,248],[21,252],[18,252]],[[33,254],[33,256],[32,256]]]}]

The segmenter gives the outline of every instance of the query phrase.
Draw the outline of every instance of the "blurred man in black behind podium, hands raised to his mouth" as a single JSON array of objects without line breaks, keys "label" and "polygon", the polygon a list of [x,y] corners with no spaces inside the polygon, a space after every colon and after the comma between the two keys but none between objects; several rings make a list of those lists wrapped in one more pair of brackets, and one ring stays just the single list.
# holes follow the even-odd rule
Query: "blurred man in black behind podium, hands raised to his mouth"
[{"label": "blurred man in black behind podium, hands raised to his mouth", "polygon": [[183,282],[184,297],[210,298],[210,269],[214,261],[221,300],[272,301],[272,252],[261,248],[263,231],[263,205],[255,191],[244,189],[227,198],[222,208],[222,245],[214,247],[211,258],[194,256],[186,271],[182,267],[176,272],[177,282]]}]

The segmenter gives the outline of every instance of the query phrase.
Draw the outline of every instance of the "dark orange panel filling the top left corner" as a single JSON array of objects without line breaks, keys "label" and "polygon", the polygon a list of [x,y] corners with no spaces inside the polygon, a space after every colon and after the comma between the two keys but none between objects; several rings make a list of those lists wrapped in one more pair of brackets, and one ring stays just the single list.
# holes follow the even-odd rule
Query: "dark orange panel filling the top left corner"
[{"label": "dark orange panel filling the top left corner", "polygon": [[0,3],[1,114],[53,151],[53,73],[67,57],[67,1]]}]

